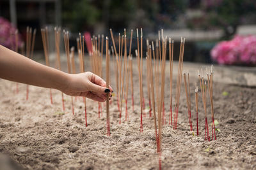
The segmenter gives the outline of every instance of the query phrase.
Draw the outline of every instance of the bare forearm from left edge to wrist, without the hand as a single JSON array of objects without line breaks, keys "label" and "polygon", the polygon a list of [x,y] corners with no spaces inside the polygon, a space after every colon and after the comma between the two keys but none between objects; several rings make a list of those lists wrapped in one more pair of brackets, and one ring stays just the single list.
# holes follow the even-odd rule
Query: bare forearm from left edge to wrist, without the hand
[{"label": "bare forearm from left edge to wrist, without the hand", "polygon": [[0,78],[61,90],[67,85],[68,74],[0,45]]}]

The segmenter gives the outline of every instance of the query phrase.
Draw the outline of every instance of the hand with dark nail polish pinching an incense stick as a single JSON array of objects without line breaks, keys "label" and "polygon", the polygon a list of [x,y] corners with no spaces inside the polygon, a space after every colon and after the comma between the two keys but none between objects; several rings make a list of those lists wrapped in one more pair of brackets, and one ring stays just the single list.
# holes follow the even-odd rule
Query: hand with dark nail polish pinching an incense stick
[{"label": "hand with dark nail polish pinching an incense stick", "polygon": [[[91,72],[80,74],[68,74],[67,85],[60,89],[70,96],[84,96],[95,101],[104,102],[112,97],[113,89],[106,88],[106,82]],[[111,99],[111,98],[109,98]]]}]

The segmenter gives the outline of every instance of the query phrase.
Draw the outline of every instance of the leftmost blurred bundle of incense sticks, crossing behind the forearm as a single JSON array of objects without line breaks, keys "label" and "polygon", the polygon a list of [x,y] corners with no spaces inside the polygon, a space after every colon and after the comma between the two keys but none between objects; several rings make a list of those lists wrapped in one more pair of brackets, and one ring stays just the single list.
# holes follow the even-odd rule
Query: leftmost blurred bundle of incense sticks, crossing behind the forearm
[{"label": "leftmost blurred bundle of incense sticks, crossing behind the forearm", "polygon": [[[26,56],[29,59],[33,59],[34,46],[35,46],[35,36],[36,36],[36,29],[33,30],[33,38],[32,38],[32,28],[27,27],[27,32],[26,32]],[[17,46],[16,46],[16,48],[17,48]],[[28,101],[28,95],[29,95],[29,85],[27,85],[26,101]]]}]

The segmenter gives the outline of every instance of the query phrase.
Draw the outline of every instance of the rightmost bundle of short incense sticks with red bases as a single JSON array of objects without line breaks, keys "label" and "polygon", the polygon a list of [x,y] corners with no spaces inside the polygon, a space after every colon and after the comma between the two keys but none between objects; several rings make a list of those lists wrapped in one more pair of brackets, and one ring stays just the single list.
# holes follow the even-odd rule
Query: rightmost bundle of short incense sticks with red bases
[{"label": "rightmost bundle of short incense sticks with red bases", "polygon": [[[210,76],[210,78],[209,78]],[[215,133],[215,124],[214,124],[214,111],[213,111],[213,99],[212,99],[212,66],[211,66],[211,74],[209,75],[207,73],[207,82],[208,82],[208,87],[209,87],[209,96],[210,96],[210,101],[211,101],[211,117],[212,117],[212,122],[211,122],[211,127],[212,127],[212,139],[213,139],[213,132],[214,132],[214,139],[216,140],[216,133]]]}]

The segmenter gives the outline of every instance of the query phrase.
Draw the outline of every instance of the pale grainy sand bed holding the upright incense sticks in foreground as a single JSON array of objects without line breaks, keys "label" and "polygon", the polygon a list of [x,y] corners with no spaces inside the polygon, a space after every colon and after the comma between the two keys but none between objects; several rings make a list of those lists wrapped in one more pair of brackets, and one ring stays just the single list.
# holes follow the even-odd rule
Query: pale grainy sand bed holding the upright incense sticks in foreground
[{"label": "pale grainy sand bed holding the upright incense sticks in foreground", "polygon": [[[174,74],[173,78],[175,88],[177,76]],[[146,78],[143,81],[146,83]],[[191,78],[191,89],[194,89],[194,81]],[[114,82],[113,77],[111,84],[115,89]],[[221,132],[216,131],[216,141],[205,141],[201,94],[199,93],[198,106],[200,136],[197,137],[189,131],[183,80],[177,130],[168,125],[170,93],[169,81],[166,82],[164,101],[167,124],[163,127],[162,169],[256,168],[255,89],[214,82],[214,117],[220,123],[216,128]],[[107,137],[104,104],[103,115],[98,118],[98,103],[88,100],[88,127],[85,127],[81,97],[74,100],[75,115],[72,115],[71,97],[65,96],[66,110],[63,112],[61,92],[57,90],[52,90],[54,104],[51,104],[49,89],[29,86],[29,99],[26,101],[26,85],[19,84],[19,94],[15,94],[13,91],[16,83],[6,80],[0,80],[0,83],[0,151],[25,169],[159,168],[154,119],[149,118],[148,113],[143,117],[143,132],[140,132],[138,89],[134,89],[134,112],[129,102],[129,120],[124,122],[123,109],[121,125],[118,124],[116,97],[113,97],[110,105],[111,136]],[[136,83],[138,76],[134,76],[134,87],[138,87]],[[144,87],[147,107],[147,85]],[[223,91],[228,93],[223,95]],[[208,120],[211,120],[210,104],[208,105]],[[194,90],[191,90],[191,112],[193,131],[196,132]],[[211,136],[211,126],[209,131]]]}]

